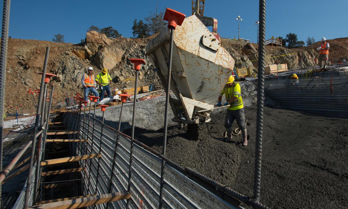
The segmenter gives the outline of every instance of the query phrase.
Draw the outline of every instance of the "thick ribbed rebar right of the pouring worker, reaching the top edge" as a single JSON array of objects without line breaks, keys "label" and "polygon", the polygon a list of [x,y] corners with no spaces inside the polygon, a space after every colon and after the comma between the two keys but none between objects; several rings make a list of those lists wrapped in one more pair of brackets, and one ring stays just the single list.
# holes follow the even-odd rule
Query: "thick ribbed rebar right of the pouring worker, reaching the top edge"
[{"label": "thick ribbed rebar right of the pouring worker, reaching the top edge", "polygon": [[263,102],[264,102],[264,63],[265,63],[265,34],[266,34],[266,0],[260,0],[259,5],[259,71],[258,71],[258,107],[256,118],[255,144],[255,173],[254,173],[254,202],[260,201],[261,163],[262,163],[262,133],[263,133]]}]

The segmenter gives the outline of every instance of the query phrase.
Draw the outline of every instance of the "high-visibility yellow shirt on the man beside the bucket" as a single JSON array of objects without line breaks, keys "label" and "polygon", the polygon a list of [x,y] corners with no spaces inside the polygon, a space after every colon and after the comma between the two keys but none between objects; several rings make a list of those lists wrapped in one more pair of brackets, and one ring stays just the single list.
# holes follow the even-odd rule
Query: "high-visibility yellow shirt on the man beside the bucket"
[{"label": "high-visibility yellow shirt on the man beside the bucket", "polygon": [[233,82],[233,85],[231,87],[224,87],[221,91],[220,96],[226,96],[227,102],[230,101],[232,97],[237,97],[237,99],[232,102],[230,107],[227,109],[229,110],[239,110],[244,107],[242,94],[240,93],[240,85],[239,83]]}]

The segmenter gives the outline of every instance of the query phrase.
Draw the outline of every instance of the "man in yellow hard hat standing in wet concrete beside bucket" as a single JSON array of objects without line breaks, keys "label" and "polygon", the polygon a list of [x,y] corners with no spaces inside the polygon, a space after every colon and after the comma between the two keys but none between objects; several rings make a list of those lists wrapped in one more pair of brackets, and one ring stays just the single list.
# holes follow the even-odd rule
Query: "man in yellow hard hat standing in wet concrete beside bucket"
[{"label": "man in yellow hard hat standing in wet concrete beside bucket", "polygon": [[245,113],[244,113],[244,105],[242,94],[240,92],[239,83],[235,82],[234,77],[231,75],[228,79],[226,86],[223,88],[219,98],[217,106],[221,105],[222,96],[226,96],[226,105],[230,105],[227,108],[226,117],[225,117],[225,128],[227,131],[227,138],[225,142],[230,142],[232,137],[232,123],[234,120],[237,121],[238,127],[240,131],[242,131],[243,137],[243,146],[248,145],[247,133],[246,133],[246,124],[245,124]]}]

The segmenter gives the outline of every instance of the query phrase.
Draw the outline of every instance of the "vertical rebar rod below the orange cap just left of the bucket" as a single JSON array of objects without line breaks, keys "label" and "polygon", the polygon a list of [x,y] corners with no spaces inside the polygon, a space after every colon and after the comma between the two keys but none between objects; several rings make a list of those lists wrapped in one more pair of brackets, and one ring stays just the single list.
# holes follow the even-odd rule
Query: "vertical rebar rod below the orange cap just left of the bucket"
[{"label": "vertical rebar rod below the orange cap just left of the bucket", "polygon": [[[134,129],[135,129],[135,107],[136,107],[136,95],[138,89],[138,77],[139,70],[135,72],[135,87],[134,87],[134,98],[133,98],[133,117],[132,117],[132,136],[130,139],[130,157],[129,157],[129,171],[128,171],[128,187],[127,191],[130,192],[130,184],[132,179],[132,162],[133,162],[133,146],[134,146]],[[127,199],[126,209],[129,208],[129,200]]]}]

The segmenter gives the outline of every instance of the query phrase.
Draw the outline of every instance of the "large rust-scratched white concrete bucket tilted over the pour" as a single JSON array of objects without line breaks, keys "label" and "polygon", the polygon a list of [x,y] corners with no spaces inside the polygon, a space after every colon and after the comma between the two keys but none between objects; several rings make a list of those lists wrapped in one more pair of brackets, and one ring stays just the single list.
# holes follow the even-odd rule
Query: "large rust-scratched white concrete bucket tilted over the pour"
[{"label": "large rust-scratched white concrete bucket tilted over the pour", "polygon": [[[215,31],[210,32],[206,27],[209,25],[214,25]],[[183,122],[197,123],[196,111],[214,107],[232,74],[235,61],[222,47],[216,29],[216,19],[192,15],[174,30],[170,88],[177,99],[171,98],[170,103],[177,122],[181,106],[187,119]],[[169,41],[170,31],[166,29],[146,47],[146,55],[156,66],[164,87],[167,86]]]}]

